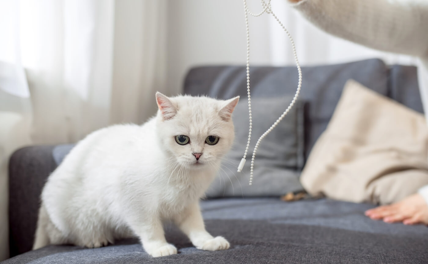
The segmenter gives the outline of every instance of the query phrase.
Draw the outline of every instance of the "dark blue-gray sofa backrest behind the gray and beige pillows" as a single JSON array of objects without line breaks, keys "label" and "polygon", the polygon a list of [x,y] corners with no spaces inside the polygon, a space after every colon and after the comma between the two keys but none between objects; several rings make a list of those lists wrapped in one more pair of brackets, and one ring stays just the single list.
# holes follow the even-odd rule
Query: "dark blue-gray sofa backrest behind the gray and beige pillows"
[{"label": "dark blue-gray sofa backrest behind the gray and beige pillows", "polygon": [[[305,109],[305,157],[327,127],[345,82],[350,78],[377,93],[389,96],[422,113],[416,80],[416,68],[387,67],[383,61],[370,59],[346,64],[302,67],[300,100]],[[292,96],[297,88],[296,67],[251,67],[251,95],[255,97]],[[189,71],[184,93],[204,94],[228,99],[247,96],[246,69],[241,66],[205,66]],[[286,104],[284,105],[284,109]]]}]

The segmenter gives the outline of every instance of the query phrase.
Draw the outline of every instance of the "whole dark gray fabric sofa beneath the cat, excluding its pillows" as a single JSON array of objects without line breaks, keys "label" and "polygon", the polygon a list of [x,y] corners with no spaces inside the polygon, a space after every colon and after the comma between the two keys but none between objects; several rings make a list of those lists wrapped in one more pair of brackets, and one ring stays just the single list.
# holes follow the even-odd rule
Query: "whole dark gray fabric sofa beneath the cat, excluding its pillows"
[{"label": "whole dark gray fabric sofa beneath the cat, excluding its pillows", "polygon": [[[326,128],[342,88],[350,78],[422,112],[414,67],[386,66],[377,59],[303,67],[300,102],[304,105],[304,159]],[[297,84],[297,71],[294,67],[252,67],[251,83],[254,98],[291,96]],[[195,67],[185,78],[184,93],[222,99],[236,95],[244,98],[245,69]],[[363,214],[373,207],[369,204],[329,199],[287,203],[269,195],[201,202],[208,231],[224,235],[231,243],[231,248],[225,251],[195,249],[171,225],[166,226],[166,237],[177,246],[179,254],[167,257],[151,258],[136,239],[99,249],[62,245],[30,251],[43,183],[71,147],[31,146],[16,151],[11,157],[12,258],[4,263],[428,263],[425,226],[370,220]]]}]

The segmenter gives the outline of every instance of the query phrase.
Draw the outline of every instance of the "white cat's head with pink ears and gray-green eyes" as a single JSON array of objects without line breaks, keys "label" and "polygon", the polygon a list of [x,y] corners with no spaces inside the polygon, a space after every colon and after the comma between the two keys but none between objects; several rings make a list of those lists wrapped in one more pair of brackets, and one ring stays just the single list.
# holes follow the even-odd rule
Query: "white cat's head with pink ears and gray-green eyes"
[{"label": "white cat's head with pink ears and gray-green eyes", "polygon": [[218,164],[235,138],[232,112],[238,100],[239,96],[217,100],[156,93],[157,133],[162,147],[187,168]]}]

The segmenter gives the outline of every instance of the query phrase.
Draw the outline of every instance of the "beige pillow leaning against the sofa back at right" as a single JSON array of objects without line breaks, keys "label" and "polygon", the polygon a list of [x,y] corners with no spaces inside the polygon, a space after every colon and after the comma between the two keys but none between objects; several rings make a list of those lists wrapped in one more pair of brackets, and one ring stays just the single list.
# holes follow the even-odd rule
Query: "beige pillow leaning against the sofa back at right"
[{"label": "beige pillow leaning against the sofa back at right", "polygon": [[388,204],[428,184],[424,116],[350,80],[300,181],[312,195]]}]

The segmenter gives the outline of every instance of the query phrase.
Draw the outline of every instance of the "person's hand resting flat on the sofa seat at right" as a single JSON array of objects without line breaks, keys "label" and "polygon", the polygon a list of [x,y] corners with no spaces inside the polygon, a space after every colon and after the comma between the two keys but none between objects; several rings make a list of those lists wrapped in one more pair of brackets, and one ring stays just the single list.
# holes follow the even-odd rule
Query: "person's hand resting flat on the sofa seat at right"
[{"label": "person's hand resting flat on the sofa seat at right", "polygon": [[366,215],[374,220],[382,219],[386,223],[428,225],[428,204],[422,195],[413,194],[398,203],[367,210]]}]

